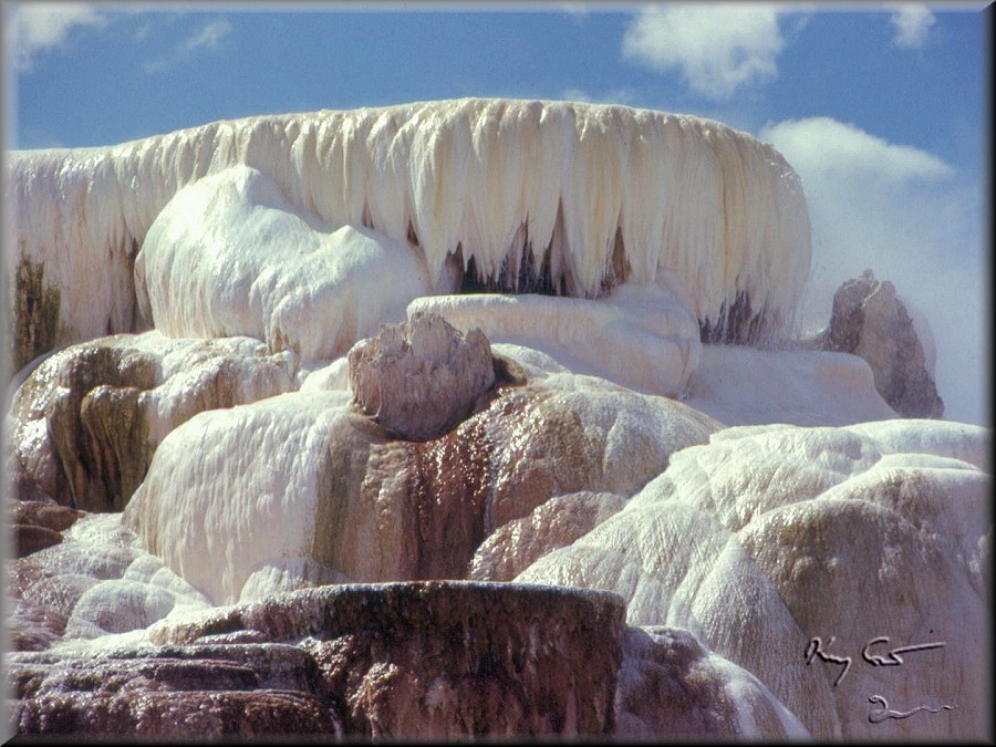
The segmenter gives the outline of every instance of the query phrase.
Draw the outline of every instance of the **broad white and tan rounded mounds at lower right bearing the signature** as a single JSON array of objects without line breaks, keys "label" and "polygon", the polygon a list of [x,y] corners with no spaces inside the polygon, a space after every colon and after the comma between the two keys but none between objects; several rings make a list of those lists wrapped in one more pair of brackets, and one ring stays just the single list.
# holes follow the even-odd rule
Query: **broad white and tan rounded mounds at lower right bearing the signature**
[{"label": "broad white and tan rounded mounds at lower right bearing the signature", "polygon": [[[928,419],[727,428],[516,581],[614,591],[630,624],[686,627],[817,739],[986,738],[992,476],[966,459],[990,443]],[[862,651],[880,636],[883,656],[944,646],[875,666]],[[839,684],[839,665],[807,665],[815,637],[851,657]],[[869,720],[876,694],[957,709],[883,726]]]}]

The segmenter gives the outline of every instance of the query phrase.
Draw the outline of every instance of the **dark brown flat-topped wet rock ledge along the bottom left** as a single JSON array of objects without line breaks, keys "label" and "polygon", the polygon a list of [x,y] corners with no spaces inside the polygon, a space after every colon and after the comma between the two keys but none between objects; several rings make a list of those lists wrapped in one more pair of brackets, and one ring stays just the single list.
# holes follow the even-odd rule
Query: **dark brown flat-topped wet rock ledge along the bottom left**
[{"label": "dark brown flat-topped wet rock ledge along the bottom left", "polygon": [[553,587],[303,590],[154,625],[158,645],[12,654],[11,725],[138,738],[608,735],[624,615],[613,594]]}]

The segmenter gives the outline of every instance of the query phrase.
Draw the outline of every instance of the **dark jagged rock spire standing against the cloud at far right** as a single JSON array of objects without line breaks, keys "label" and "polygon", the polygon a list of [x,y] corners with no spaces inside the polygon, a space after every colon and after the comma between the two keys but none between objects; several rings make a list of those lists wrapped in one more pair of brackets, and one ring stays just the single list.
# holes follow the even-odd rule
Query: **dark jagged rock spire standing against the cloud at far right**
[{"label": "dark jagged rock spire standing against the cloud at far right", "polygon": [[833,295],[828,350],[860,355],[875,388],[904,417],[941,417],[944,403],[928,370],[923,341],[895,286],[871,270],[844,282]]}]

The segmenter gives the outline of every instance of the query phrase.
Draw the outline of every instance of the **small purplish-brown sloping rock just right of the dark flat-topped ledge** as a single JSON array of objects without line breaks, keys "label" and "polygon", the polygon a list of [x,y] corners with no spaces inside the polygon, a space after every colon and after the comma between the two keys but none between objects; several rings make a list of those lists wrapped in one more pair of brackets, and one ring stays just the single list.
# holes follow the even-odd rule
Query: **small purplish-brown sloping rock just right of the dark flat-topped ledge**
[{"label": "small purplish-brown sloping rock just right of the dark flat-topped ledge", "polygon": [[679,627],[627,627],[615,692],[618,739],[807,739],[754,675]]}]

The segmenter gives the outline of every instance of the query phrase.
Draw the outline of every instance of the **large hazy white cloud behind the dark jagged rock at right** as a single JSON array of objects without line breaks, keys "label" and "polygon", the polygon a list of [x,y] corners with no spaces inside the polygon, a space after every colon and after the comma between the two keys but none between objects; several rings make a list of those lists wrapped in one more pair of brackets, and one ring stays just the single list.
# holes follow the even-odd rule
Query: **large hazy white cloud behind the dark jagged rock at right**
[{"label": "large hazy white cloud behind the dark jagged rock at right", "polygon": [[979,185],[936,155],[829,117],[769,125],[760,136],[806,189],[813,239],[807,326],[826,325],[833,291],[871,268],[933,328],[945,416],[985,423],[989,291]]}]

